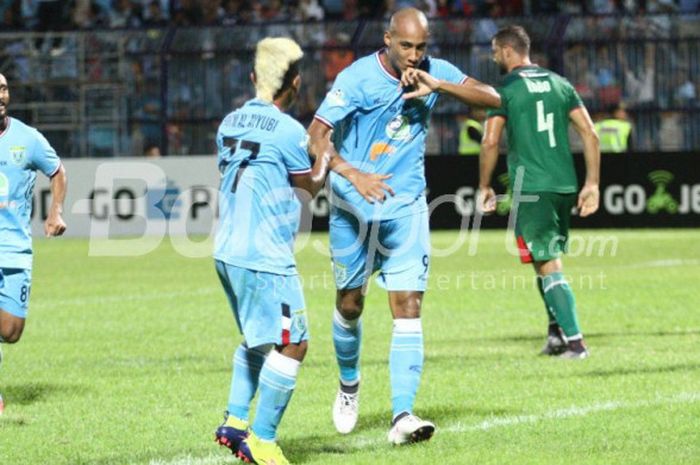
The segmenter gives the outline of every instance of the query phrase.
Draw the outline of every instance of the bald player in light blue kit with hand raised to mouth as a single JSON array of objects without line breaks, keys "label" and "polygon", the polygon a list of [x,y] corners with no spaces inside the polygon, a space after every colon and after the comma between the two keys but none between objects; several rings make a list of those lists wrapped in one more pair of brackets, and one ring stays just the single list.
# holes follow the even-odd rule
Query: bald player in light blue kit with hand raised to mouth
[{"label": "bald player in light blue kit with hand raised to mouth", "polygon": [[[388,291],[394,320],[388,435],[394,444],[429,439],[435,430],[413,415],[423,370],[420,317],[430,263],[423,163],[430,113],[440,93],[467,104],[500,105],[492,87],[427,56],[428,37],[422,12],[394,13],[384,33],[386,47],[338,75],[309,127],[313,153],[333,131],[340,156],[354,169],[388,176],[387,191],[394,194],[369,204],[347,179],[331,174],[330,244],[337,288],[333,341],[340,368],[333,420],[343,434],[357,423],[360,315],[369,277],[379,271],[377,281]],[[342,173],[335,160],[334,171]]]}]

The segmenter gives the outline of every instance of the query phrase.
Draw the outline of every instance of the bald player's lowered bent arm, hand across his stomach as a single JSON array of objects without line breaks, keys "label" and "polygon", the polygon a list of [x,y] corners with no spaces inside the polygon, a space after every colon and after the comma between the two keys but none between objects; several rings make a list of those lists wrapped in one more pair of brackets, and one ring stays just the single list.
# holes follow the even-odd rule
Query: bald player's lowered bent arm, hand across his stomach
[{"label": "bald player's lowered bent arm, hand across his stomach", "polygon": [[394,191],[384,181],[391,175],[365,173],[345,161],[336,152],[331,133],[333,130],[321,121],[314,119],[309,126],[309,153],[318,161],[319,158],[328,157],[328,169],[335,171],[350,181],[357,192],[369,203],[383,202],[386,194],[394,195]]}]

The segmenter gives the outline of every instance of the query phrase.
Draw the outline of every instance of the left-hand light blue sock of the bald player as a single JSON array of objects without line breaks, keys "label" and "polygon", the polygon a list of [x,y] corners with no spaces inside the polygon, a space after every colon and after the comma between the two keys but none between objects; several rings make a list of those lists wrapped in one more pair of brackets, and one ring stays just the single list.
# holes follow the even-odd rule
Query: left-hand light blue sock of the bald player
[{"label": "left-hand light blue sock of the bald player", "polygon": [[357,384],[360,379],[362,321],[346,320],[336,309],[333,313],[333,345],[343,384]]}]

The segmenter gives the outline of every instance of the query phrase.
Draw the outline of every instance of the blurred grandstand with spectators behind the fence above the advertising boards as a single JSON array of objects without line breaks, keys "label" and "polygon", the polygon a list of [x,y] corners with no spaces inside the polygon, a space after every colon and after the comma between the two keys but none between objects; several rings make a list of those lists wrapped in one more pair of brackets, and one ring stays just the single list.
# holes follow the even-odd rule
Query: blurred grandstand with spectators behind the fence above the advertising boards
[{"label": "blurred grandstand with spectators behind the fence above the advertising boards", "polygon": [[[379,49],[388,16],[404,6],[433,18],[430,54],[491,84],[491,36],[523,25],[533,61],[567,77],[596,121],[628,123],[629,136],[623,128],[625,140],[606,151],[700,146],[692,0],[0,0],[0,73],[10,114],[63,157],[211,155],[222,117],[253,95],[259,39],[304,47],[294,114],[307,124],[338,72]],[[479,127],[468,122],[482,118],[442,99],[427,153],[474,152],[467,138]],[[599,132],[615,135],[614,124]]]}]

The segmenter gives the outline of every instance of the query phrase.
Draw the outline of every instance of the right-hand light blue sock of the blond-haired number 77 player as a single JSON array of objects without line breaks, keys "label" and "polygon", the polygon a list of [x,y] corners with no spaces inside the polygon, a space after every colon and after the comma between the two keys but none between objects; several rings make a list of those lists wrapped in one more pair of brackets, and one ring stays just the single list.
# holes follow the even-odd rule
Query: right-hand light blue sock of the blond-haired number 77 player
[{"label": "right-hand light blue sock of the blond-haired number 77 player", "polygon": [[276,350],[267,356],[260,371],[260,397],[252,426],[259,438],[275,440],[277,426],[292,398],[300,365]]}]

